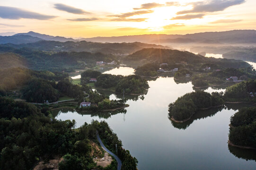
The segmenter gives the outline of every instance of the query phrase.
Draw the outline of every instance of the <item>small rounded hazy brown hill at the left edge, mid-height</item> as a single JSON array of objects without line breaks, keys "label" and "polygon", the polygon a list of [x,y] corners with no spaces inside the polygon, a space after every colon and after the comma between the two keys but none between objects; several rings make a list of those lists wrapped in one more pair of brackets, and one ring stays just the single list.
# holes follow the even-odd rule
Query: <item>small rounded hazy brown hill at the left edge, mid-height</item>
[{"label": "small rounded hazy brown hill at the left edge, mid-height", "polygon": [[0,53],[0,68],[26,68],[26,59],[15,53]]}]

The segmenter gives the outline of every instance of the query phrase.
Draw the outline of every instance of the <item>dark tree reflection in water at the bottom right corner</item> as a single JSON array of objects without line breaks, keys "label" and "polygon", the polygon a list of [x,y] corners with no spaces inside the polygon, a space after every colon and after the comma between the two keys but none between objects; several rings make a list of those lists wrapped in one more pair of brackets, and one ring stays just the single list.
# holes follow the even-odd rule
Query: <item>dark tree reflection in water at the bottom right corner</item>
[{"label": "dark tree reflection in water at the bottom right corner", "polygon": [[237,158],[256,161],[256,150],[254,149],[242,149],[229,145],[229,151]]}]

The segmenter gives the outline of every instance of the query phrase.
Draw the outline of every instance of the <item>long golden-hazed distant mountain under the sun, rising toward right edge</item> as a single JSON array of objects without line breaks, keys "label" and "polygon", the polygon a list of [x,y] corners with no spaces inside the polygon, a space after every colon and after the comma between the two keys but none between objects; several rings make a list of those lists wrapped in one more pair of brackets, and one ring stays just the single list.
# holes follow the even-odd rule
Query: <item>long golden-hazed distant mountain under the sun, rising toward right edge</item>
[{"label": "long golden-hazed distant mountain under the sun, rising toward right edge", "polygon": [[195,34],[145,34],[116,37],[93,37],[79,40],[91,42],[144,42],[144,43],[256,43],[256,30],[232,30]]}]

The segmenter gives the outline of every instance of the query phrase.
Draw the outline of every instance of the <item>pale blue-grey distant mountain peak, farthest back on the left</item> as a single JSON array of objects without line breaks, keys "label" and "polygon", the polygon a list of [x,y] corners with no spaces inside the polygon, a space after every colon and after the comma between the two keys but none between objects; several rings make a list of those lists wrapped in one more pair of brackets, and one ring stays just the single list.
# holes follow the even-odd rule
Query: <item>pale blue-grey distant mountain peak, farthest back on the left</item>
[{"label": "pale blue-grey distant mountain peak, farthest back on the left", "polygon": [[61,37],[61,36],[52,36],[52,35],[46,35],[46,34],[39,34],[39,33],[35,33],[33,31],[30,31],[28,33],[18,33],[15,34],[13,36],[17,36],[17,35],[30,35],[33,37],[38,37],[42,40],[47,40],[47,41],[59,41],[59,42],[67,42],[67,41],[73,41],[76,42],[78,40],[75,40],[73,38],[65,38],[65,37]]}]

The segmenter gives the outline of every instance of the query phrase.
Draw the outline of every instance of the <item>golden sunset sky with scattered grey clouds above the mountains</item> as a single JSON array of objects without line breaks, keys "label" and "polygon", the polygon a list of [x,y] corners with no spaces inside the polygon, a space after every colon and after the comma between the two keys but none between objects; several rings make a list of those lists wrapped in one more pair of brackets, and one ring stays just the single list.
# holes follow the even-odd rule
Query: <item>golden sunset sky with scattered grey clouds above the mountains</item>
[{"label": "golden sunset sky with scattered grey clouds above the mountains", "polygon": [[256,29],[256,0],[0,0],[0,33],[65,37]]}]

